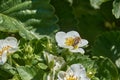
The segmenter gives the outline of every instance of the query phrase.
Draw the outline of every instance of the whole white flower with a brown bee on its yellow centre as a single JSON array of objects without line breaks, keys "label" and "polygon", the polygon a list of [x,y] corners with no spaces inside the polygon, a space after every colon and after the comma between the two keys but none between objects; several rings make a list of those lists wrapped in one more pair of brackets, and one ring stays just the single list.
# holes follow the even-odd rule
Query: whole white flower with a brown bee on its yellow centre
[{"label": "whole white flower with a brown bee on its yellow centre", "polygon": [[88,44],[86,39],[82,39],[78,32],[69,31],[67,33],[60,31],[55,35],[58,46],[68,48],[71,52],[80,52],[84,54],[85,51],[82,47]]}]

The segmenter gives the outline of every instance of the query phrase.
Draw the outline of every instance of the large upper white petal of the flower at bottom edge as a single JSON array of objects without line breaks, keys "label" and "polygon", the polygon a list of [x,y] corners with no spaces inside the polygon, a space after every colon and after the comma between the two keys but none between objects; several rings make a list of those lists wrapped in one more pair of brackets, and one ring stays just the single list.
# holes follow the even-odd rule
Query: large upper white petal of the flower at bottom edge
[{"label": "large upper white petal of the flower at bottom edge", "polygon": [[85,68],[81,64],[73,64],[68,68],[67,72],[72,71],[77,77],[86,76]]}]

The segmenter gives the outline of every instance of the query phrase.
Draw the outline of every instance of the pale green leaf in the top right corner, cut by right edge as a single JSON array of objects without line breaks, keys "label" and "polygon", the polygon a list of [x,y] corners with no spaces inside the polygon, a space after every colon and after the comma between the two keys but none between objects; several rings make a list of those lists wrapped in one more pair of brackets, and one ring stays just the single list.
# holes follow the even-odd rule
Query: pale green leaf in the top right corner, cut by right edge
[{"label": "pale green leaf in the top right corner, cut by right edge", "polygon": [[120,1],[119,0],[113,1],[112,13],[116,18],[120,18]]}]

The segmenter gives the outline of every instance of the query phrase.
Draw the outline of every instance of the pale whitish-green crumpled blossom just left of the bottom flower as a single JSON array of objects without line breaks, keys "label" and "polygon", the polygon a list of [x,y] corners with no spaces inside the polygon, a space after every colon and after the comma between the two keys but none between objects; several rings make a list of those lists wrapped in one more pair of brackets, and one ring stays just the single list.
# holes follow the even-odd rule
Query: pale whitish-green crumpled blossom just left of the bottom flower
[{"label": "pale whitish-green crumpled blossom just left of the bottom flower", "polygon": [[54,80],[56,71],[58,71],[64,64],[65,61],[62,57],[54,56],[48,52],[43,52],[44,58],[47,61],[48,65],[53,63],[50,73],[47,75],[46,80]]}]

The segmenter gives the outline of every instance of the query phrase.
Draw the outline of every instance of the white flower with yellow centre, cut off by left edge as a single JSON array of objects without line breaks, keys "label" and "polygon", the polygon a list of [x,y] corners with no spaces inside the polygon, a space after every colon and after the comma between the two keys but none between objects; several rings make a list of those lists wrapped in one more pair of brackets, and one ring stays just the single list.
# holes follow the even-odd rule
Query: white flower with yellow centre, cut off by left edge
[{"label": "white flower with yellow centre, cut off by left edge", "polygon": [[18,50],[18,42],[14,37],[7,37],[0,40],[0,65],[7,61],[7,55]]}]

